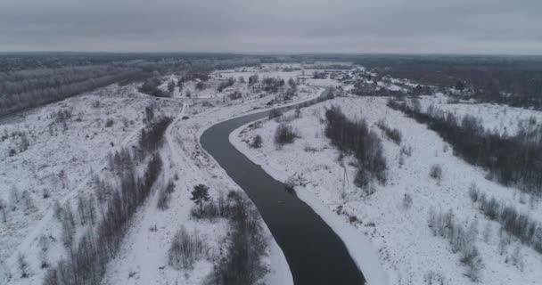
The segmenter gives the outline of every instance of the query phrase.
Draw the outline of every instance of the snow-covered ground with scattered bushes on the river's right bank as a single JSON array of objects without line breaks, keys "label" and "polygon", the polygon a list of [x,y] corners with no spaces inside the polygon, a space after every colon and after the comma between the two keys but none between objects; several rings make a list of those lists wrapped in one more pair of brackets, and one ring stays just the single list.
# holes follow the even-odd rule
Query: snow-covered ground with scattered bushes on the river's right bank
[{"label": "snow-covered ground with scattered bushes on the river's right bank", "polygon": [[[381,134],[389,181],[385,186],[375,185],[376,191],[371,196],[364,197],[353,185],[356,169],[349,163],[345,163],[345,176],[345,170],[337,160],[339,151],[324,135],[324,110],[332,104],[339,105],[350,119],[365,118],[368,126]],[[404,158],[402,167],[398,162],[400,146],[387,140],[375,126],[381,119],[388,126],[402,131],[401,146],[412,147],[412,156]],[[238,129],[230,140],[278,180],[285,181],[292,175],[306,179],[308,184],[305,187],[295,188],[298,195],[312,208],[324,207],[318,212],[335,212],[335,216],[341,217],[339,226],[328,214],[322,214],[345,240],[370,283],[374,268],[364,264],[367,258],[370,259],[369,264],[382,264],[390,284],[424,284],[431,273],[441,274],[445,284],[472,282],[465,276],[467,269],[460,263],[459,254],[450,251],[448,240],[432,235],[428,227],[430,208],[440,211],[452,209],[456,221],[465,227],[477,223],[480,234],[476,238],[476,246],[484,266],[480,284],[538,284],[542,280],[542,273],[538,270],[542,266],[542,258],[532,248],[513,240],[505,254],[499,254],[499,225],[480,214],[469,198],[468,189],[471,183],[476,183],[489,197],[496,197],[536,218],[542,216],[542,208],[538,204],[530,207],[518,191],[486,180],[479,167],[472,167],[456,158],[438,134],[414,119],[406,118],[401,112],[390,110],[385,98],[336,98],[302,109],[301,118],[289,123],[300,138],[280,150],[273,143],[278,124],[275,120],[265,119],[260,127]],[[263,138],[260,149],[250,148],[248,144],[256,134]],[[347,162],[352,161],[352,158],[347,158]],[[441,165],[443,169],[440,183],[429,175],[434,164]],[[410,208],[403,206],[406,195],[413,200]],[[352,232],[351,228],[357,231]],[[489,236],[487,240],[482,237],[486,233]],[[365,234],[365,237],[349,242],[360,234]],[[371,247],[364,245],[364,240],[369,240],[377,252],[376,260],[372,260],[371,254],[365,251]],[[511,259],[516,248],[520,248],[521,262],[512,265],[506,261]],[[374,283],[380,283],[376,277],[374,280]]]}]

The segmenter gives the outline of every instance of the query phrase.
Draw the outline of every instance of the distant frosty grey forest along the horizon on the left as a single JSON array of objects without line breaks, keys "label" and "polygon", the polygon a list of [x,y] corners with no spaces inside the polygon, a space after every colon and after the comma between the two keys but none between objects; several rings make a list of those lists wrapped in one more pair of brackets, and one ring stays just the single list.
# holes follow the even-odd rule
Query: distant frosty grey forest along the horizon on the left
[{"label": "distant frosty grey forest along the horizon on the left", "polygon": [[[145,81],[164,73],[186,77],[258,65],[257,57],[226,54],[0,53],[0,116],[92,91]],[[199,56],[199,57],[198,57]],[[156,71],[156,72],[155,72]],[[152,81],[149,81],[154,83]],[[155,85],[144,85],[159,97]],[[147,90],[147,91],[148,91]]]}]

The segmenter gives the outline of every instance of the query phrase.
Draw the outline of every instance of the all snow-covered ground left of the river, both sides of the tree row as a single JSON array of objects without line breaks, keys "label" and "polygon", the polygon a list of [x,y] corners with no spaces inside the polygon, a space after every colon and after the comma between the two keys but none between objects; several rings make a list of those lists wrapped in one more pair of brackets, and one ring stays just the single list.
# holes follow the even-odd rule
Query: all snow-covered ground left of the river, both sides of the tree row
[{"label": "all snow-covered ground left of the river, both sides of the tree row", "polygon": [[[176,76],[166,78],[177,79]],[[224,248],[229,225],[225,221],[191,220],[189,210],[193,202],[189,199],[189,191],[196,183],[206,183],[211,188],[211,196],[216,198],[218,191],[239,191],[239,188],[214,160],[204,154],[199,146],[199,135],[205,127],[219,120],[278,104],[268,104],[274,95],[251,93],[242,83],[227,88],[227,92],[246,92],[241,99],[232,100],[218,94],[216,86],[212,86],[215,83],[209,80],[208,88],[204,90],[207,95],[197,94],[188,98],[176,88],[173,98],[160,99],[139,94],[136,85],[111,85],[31,110],[24,117],[5,120],[0,129],[0,134],[5,134],[0,150],[2,159],[8,163],[0,169],[3,177],[0,198],[5,201],[3,207],[12,208],[13,205],[16,208],[8,211],[7,223],[0,224],[2,281],[10,284],[40,282],[46,270],[39,268],[42,237],[48,240],[45,257],[50,265],[66,254],[59,240],[62,235],[60,224],[53,218],[51,210],[54,201],[61,204],[70,202],[75,207],[78,197],[94,192],[93,174],[113,179],[106,167],[108,153],[137,142],[144,126],[145,107],[152,105],[156,116],[176,118],[166,134],[167,147],[161,150],[166,171],[155,185],[160,189],[164,181],[178,176],[176,191],[167,211],[156,208],[158,191],[146,201],[136,214],[126,243],[119,256],[111,262],[111,269],[103,282],[201,283],[212,272],[211,261]],[[194,85],[193,81],[186,82],[185,88],[190,90]],[[166,85],[161,87],[167,88]],[[300,85],[298,91],[293,102],[319,94],[318,88],[308,85]],[[185,119],[185,116],[190,118]],[[22,143],[22,137],[29,142],[29,147],[20,153],[20,146],[26,143]],[[115,183],[114,180],[110,182]],[[11,189],[17,190],[16,199],[11,198],[13,195],[10,193],[14,192]],[[205,237],[209,250],[206,258],[198,261],[193,269],[178,272],[163,266],[167,265],[166,253],[172,236],[181,225],[188,232],[197,231]],[[290,284],[292,276],[282,250],[267,227],[264,228],[269,240],[265,280],[274,284]],[[76,239],[83,230],[77,230]],[[27,278],[21,278],[19,256],[24,256],[28,264]]]}]

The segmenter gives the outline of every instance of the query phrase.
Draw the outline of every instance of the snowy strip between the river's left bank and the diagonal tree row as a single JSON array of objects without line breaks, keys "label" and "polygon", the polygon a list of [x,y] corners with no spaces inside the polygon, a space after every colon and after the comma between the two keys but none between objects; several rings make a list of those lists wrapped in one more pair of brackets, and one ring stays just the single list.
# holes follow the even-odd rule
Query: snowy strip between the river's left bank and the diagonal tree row
[{"label": "snowy strip between the river's left bank and the diagonal tree row", "polygon": [[[298,100],[314,98],[318,92],[302,96]],[[199,137],[205,129],[227,118],[241,116],[259,110],[268,102],[268,98],[254,98],[229,107],[202,110],[200,106],[187,107],[183,114],[171,124],[166,133],[167,147],[162,151],[166,159],[164,175],[169,178],[177,174],[176,191],[166,211],[156,208],[157,195],[136,217],[135,226],[127,234],[126,244],[119,257],[111,262],[103,284],[201,284],[212,272],[212,260],[224,247],[227,224],[216,222],[193,221],[190,209],[190,191],[198,183],[205,183],[210,188],[210,196],[218,198],[220,191],[242,191],[226,172],[218,167],[214,159],[201,149]],[[189,119],[182,119],[184,115]],[[167,251],[171,239],[180,226],[189,231],[197,231],[209,246],[207,257],[194,265],[192,270],[179,272],[168,266]],[[156,227],[157,231],[149,229]],[[264,226],[265,227],[265,226]],[[269,270],[265,277],[267,284],[292,284],[292,275],[275,240],[266,229],[269,245],[265,263]]]}]

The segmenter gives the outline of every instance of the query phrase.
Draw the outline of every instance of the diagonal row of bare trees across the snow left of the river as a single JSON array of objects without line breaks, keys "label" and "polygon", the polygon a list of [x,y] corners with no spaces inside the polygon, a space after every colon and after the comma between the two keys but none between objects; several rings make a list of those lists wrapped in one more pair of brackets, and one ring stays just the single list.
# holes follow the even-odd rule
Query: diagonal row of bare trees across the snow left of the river
[{"label": "diagonal row of bare trees across the snow left of the river", "polygon": [[[55,207],[54,213],[62,224],[62,240],[68,248],[68,256],[47,270],[45,285],[90,285],[101,281],[107,263],[120,248],[132,216],[149,197],[152,186],[159,178],[163,163],[156,149],[170,122],[170,118],[161,118],[148,126],[140,137],[141,150],[135,150],[134,154],[123,149],[110,156],[110,170],[120,176],[119,186],[113,187],[99,178],[94,179],[96,205],[94,198],[79,200],[76,212],[80,224],[90,223],[93,226],[84,228],[85,232],[77,243],[73,240],[76,215],[70,203],[63,208],[60,205]],[[143,175],[139,176],[137,162],[144,161],[144,153],[149,153],[150,159],[146,161]],[[96,213],[101,213],[101,218]]]}]

